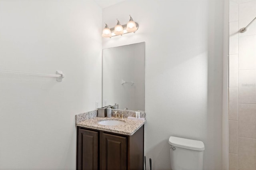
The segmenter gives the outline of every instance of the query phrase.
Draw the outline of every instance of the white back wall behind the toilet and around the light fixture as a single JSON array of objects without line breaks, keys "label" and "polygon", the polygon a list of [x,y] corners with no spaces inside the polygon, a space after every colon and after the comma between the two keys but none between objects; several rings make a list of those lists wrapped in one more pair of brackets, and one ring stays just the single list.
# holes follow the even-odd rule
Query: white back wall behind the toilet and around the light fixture
[{"label": "white back wall behind the toilet and around the light fixture", "polygon": [[145,155],[153,169],[170,169],[171,135],[202,140],[204,170],[222,168],[223,4],[129,0],[102,11],[102,28],[116,18],[125,24],[129,14],[140,25],[103,38],[103,48],[146,42]]}]

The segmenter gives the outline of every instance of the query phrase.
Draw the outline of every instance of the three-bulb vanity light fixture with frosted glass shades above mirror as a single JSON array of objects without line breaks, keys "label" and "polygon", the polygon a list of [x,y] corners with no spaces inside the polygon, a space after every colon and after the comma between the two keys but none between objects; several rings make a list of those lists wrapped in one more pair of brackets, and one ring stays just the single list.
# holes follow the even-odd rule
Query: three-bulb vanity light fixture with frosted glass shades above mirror
[{"label": "three-bulb vanity light fixture with frosted glass shades above mirror", "polygon": [[121,25],[120,21],[118,19],[116,20],[117,24],[114,28],[108,28],[108,25],[106,24],[105,28],[102,30],[102,37],[111,38],[119,35],[122,36],[122,34],[136,32],[138,30],[139,25],[133,21],[131,16],[129,22],[125,25]]}]

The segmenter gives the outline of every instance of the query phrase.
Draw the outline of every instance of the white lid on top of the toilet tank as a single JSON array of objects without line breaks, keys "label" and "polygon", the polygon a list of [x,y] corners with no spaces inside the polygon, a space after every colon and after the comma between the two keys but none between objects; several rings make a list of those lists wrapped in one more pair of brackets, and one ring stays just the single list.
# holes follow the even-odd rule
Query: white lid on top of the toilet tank
[{"label": "white lid on top of the toilet tank", "polygon": [[192,150],[204,150],[204,143],[199,140],[178,138],[170,136],[169,144],[180,148],[192,149]]}]

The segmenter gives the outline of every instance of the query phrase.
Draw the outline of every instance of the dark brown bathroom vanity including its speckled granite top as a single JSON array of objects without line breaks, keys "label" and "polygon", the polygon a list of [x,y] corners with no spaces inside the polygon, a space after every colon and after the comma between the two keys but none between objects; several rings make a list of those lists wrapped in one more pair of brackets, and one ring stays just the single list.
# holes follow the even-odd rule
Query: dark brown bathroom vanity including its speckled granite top
[{"label": "dark brown bathroom vanity including its speckled granite top", "polygon": [[[127,112],[130,116],[133,114]],[[102,118],[96,117],[96,114],[92,111],[76,115],[76,169],[143,170],[146,121]],[[145,113],[142,115],[146,116]],[[108,121],[122,124],[102,125]]]}]

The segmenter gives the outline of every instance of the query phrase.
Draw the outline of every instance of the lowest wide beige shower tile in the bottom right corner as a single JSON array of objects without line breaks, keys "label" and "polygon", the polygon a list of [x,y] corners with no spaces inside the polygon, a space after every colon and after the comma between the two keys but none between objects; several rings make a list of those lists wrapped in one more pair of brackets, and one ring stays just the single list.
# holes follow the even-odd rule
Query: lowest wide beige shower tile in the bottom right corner
[{"label": "lowest wide beige shower tile in the bottom right corner", "polygon": [[239,170],[256,170],[256,139],[238,138]]}]

